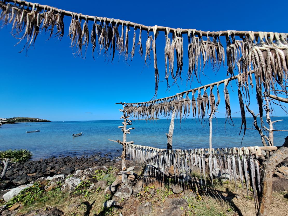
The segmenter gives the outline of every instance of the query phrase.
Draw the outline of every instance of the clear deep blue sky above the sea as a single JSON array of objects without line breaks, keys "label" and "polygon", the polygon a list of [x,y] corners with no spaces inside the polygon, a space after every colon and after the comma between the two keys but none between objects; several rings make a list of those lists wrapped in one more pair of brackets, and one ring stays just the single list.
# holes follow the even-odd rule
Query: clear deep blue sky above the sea
[{"label": "clear deep blue sky above the sea", "polygon": [[[174,28],[191,28],[202,31],[242,30],[288,32],[287,14],[281,8],[287,8],[287,1],[281,2],[281,8],[270,5],[270,1],[245,3],[245,1],[55,1],[37,0],[59,9],[73,11],[91,16],[102,16],[137,22],[147,26],[169,26]],[[69,2],[69,3],[68,3]],[[285,3],[286,2],[286,3]],[[271,7],[270,7],[270,6]],[[280,10],[280,12],[277,12]],[[176,18],[177,17],[177,18]],[[65,18],[65,36],[60,41],[48,38],[42,33],[37,37],[35,49],[18,53],[22,43],[14,46],[18,40],[10,35],[11,25],[0,31],[1,67],[0,67],[0,118],[36,117],[52,121],[70,120],[115,120],[119,119],[121,108],[114,103],[148,101],[154,95],[153,60],[150,66],[144,67],[144,61],[138,49],[132,62],[126,64],[123,58],[115,56],[113,64],[105,61],[97,50],[92,58],[92,46],[89,44],[86,60],[74,58],[67,37],[70,17]],[[88,23],[91,31],[92,22]],[[139,31],[136,33],[138,39]],[[129,51],[132,47],[133,29],[129,34]],[[146,32],[142,33],[142,44],[145,48]],[[184,35],[184,74],[187,71],[187,35]],[[225,38],[221,38],[225,45]],[[160,80],[164,80],[164,33],[160,32],[157,40],[157,59]],[[145,53],[145,50],[144,50]],[[152,54],[153,56],[153,54]],[[176,67],[176,65],[175,65]],[[226,78],[226,69],[221,67],[215,75],[206,69],[209,79],[202,76],[202,84],[209,84]],[[185,80],[185,79],[184,79]],[[179,91],[190,89],[186,82],[180,90],[173,86],[166,91],[166,82],[160,82],[158,98],[174,95]],[[170,83],[172,83],[170,81]],[[123,88],[125,84],[125,88]],[[180,83],[179,83],[180,84]],[[200,84],[192,83],[192,88]],[[221,105],[217,117],[225,117],[223,86]],[[234,89],[236,90],[236,88]],[[232,112],[240,111],[237,95],[231,93]],[[255,99],[255,92],[251,96]],[[251,108],[258,112],[257,106]],[[286,113],[274,107],[274,115],[285,116]],[[240,113],[235,113],[239,117]]]}]

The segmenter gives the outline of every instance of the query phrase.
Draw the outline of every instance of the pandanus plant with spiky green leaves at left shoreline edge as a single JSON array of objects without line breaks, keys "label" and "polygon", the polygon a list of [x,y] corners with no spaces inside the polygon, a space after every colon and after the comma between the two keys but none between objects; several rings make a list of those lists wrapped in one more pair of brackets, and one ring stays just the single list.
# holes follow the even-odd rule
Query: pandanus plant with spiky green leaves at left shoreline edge
[{"label": "pandanus plant with spiky green leaves at left shoreline edge", "polygon": [[10,163],[20,163],[23,164],[30,160],[32,153],[27,149],[8,149],[6,151],[0,151],[0,160],[3,162],[3,171],[0,175],[0,179],[3,179],[7,168]]}]

